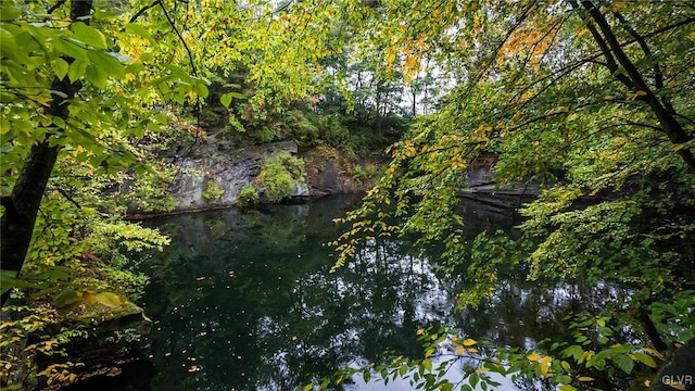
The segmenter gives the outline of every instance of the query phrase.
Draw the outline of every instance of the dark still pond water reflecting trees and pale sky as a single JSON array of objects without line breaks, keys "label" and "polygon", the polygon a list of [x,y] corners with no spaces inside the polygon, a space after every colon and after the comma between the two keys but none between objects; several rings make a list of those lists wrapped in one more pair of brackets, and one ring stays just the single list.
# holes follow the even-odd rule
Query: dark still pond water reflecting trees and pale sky
[{"label": "dark still pond water reflecting trees and pale sky", "polygon": [[[334,197],[149,220],[172,238],[141,266],[151,279],[140,304],[153,320],[144,346],[156,368],[152,390],[294,390],[340,367],[380,363],[386,350],[421,357],[417,330],[428,326],[532,348],[544,338],[563,339],[559,320],[578,305],[601,305],[616,294],[509,277],[490,302],[455,311],[465,287],[438,272],[435,250],[420,256],[403,239],[366,243],[331,274],[334,257],[324,243],[340,234],[331,219],[355,201]],[[473,202],[462,213],[471,239],[518,223],[509,212]],[[450,377],[458,374],[453,368]],[[356,377],[344,389],[406,386]],[[527,386],[504,387],[533,389]]]}]

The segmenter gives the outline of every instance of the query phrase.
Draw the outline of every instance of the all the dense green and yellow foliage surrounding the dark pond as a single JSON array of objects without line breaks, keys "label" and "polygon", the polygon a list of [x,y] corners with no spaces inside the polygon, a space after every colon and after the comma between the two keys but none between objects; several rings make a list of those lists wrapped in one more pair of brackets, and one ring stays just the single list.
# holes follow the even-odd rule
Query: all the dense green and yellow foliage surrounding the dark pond
[{"label": "all the dense green and yellow foliage surrounding the dark pond", "polygon": [[[472,386],[497,371],[565,390],[637,387],[695,337],[687,1],[1,7],[3,303],[13,287],[62,292],[71,305],[124,302],[108,294],[113,286],[136,292],[142,277],[127,273],[132,253],[167,239],[123,216],[128,207],[174,207],[167,188],[176,172],[157,151],[202,137],[202,125],[235,142],[291,138],[352,153],[400,137],[380,181],[343,219],[336,267],[361,240],[416,234],[422,245],[444,243],[445,269],[473,286],[462,306],[494,297],[496,276],[517,269],[532,280],[634,290],[602,313],[568,319],[573,342],[496,351],[498,361],[469,367]],[[500,188],[539,186],[540,195],[521,209],[520,238],[481,235],[466,258],[466,222],[455,209],[480,157],[495,162]],[[304,175],[298,163],[267,163],[261,181],[270,199]],[[219,195],[211,182],[205,197]],[[256,199],[250,188],[243,200]],[[40,327],[45,315],[23,321],[38,316]],[[17,336],[24,325],[13,324]],[[618,340],[626,328],[641,342]],[[453,389],[431,356],[443,344],[460,356],[479,342],[454,330],[420,333],[422,360],[377,371]]]}]

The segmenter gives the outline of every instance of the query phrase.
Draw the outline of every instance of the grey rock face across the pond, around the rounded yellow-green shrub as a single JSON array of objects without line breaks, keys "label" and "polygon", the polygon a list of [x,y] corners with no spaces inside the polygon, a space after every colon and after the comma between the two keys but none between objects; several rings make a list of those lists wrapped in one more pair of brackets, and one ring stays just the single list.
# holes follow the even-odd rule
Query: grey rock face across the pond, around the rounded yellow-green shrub
[{"label": "grey rock face across the pond, around the rounded yellow-green shrub", "polygon": [[294,181],[292,199],[363,192],[370,182],[368,178],[356,180],[353,169],[358,164],[337,149],[319,146],[300,151],[291,140],[239,147],[211,138],[190,148],[185,155],[179,153],[175,151],[165,157],[177,167],[170,187],[178,201],[174,212],[231,206],[239,202],[240,191],[251,186],[257,190],[261,202],[270,202],[257,178],[264,162],[282,153],[302,157],[306,163],[306,182]]}]

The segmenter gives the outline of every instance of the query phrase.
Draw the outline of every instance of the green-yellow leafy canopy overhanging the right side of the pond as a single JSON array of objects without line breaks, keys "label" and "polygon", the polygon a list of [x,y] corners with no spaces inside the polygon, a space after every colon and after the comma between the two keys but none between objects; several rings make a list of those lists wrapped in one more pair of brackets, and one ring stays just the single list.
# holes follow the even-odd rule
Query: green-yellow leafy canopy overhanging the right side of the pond
[{"label": "green-yellow leafy canopy overhanging the right side of the pond", "polygon": [[[632,301],[610,305],[601,316],[636,330],[664,319],[623,316],[622,305],[633,314],[643,305],[658,314],[661,304],[693,302],[686,290],[686,270],[695,265],[692,5],[394,0],[345,7],[349,21],[369,31],[356,46],[364,56],[379,59],[384,74],[413,78],[433,61],[451,88],[435,113],[420,117],[390,148],[381,181],[342,219],[348,229],[333,243],[340,253],[334,267],[349,262],[361,238],[415,232],[424,244],[443,242],[444,268],[463,269],[462,278],[473,286],[462,292],[462,305],[494,298],[498,274],[518,269],[529,279],[631,287]],[[527,217],[521,238],[483,234],[476,239],[478,253],[468,258],[466,222],[455,207],[466,173],[481,160],[494,162],[497,191],[538,187],[539,197],[520,210]],[[391,217],[396,223],[388,224]],[[685,338],[694,323],[691,314],[679,323],[678,335]],[[652,332],[648,339],[665,350],[665,337]],[[535,360],[507,355],[505,374],[551,378],[570,390],[594,378],[564,376],[581,369],[566,368],[568,356],[581,366],[595,354],[601,366],[590,366],[606,381],[608,357],[626,374],[636,362],[657,366],[644,350],[631,353],[634,346],[618,352],[595,338],[577,341],[578,349],[560,352],[558,361],[553,352],[533,355],[543,363],[530,373],[528,361]],[[395,377],[415,368],[415,379],[427,380],[420,387],[450,387],[424,377],[431,362],[403,373],[399,366],[382,369]]]}]

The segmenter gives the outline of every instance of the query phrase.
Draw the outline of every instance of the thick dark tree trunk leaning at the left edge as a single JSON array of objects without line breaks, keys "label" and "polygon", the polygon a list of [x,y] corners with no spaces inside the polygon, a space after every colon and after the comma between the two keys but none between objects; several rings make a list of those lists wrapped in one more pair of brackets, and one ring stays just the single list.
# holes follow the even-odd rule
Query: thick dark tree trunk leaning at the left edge
[{"label": "thick dark tree trunk leaning at the left edge", "polygon": [[[73,0],[71,2],[71,20],[89,24],[92,0]],[[72,62],[72,59],[66,59]],[[51,84],[51,105],[46,109],[48,116],[55,116],[67,119],[70,111],[70,100],[75,98],[81,84],[71,83],[67,76],[62,80],[54,79]],[[55,91],[55,92],[53,92]],[[2,216],[0,231],[2,241],[0,243],[0,260],[2,270],[16,272],[17,276],[22,270],[26,258],[31,232],[36,223],[36,216],[46,191],[46,185],[51,177],[51,172],[58,160],[60,144],[51,146],[49,139],[60,130],[48,133],[43,141],[31,147],[29,155],[24,162],[12,193],[2,199],[5,214]],[[9,297],[9,291],[2,295],[1,303],[4,304]]]}]

